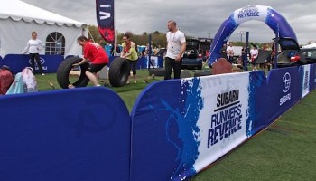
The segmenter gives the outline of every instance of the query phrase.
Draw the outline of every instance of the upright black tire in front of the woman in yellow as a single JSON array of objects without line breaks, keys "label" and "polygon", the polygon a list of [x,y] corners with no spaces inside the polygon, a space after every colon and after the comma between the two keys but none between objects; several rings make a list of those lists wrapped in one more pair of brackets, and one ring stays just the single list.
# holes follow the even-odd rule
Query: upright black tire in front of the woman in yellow
[{"label": "upright black tire in front of the woman in yellow", "polygon": [[122,87],[130,75],[129,62],[123,58],[115,58],[108,70],[108,81],[113,87]]}]

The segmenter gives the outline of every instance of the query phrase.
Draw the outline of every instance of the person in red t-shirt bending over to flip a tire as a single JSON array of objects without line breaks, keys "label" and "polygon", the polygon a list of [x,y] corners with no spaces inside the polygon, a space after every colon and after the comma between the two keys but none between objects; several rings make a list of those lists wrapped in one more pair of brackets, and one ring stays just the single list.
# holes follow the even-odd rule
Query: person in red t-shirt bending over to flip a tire
[{"label": "person in red t-shirt bending over to flip a tire", "polygon": [[[83,60],[73,64],[73,66],[91,62],[86,71],[86,75],[95,86],[100,86],[97,73],[108,63],[107,52],[98,43],[90,42],[85,36],[80,36],[77,40],[79,45],[83,47],[84,55]],[[72,87],[72,85],[69,86],[69,88]]]}]

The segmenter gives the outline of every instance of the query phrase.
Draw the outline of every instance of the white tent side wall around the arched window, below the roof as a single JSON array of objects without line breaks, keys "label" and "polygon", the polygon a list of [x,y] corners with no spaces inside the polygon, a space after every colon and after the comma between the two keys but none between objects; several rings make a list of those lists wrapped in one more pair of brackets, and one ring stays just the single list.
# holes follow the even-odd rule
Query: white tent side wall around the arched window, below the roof
[{"label": "white tent side wall around the arched window, below the roof", "polygon": [[[45,43],[47,36],[51,33],[58,32],[65,37],[65,56],[81,55],[82,48],[77,43],[80,35],[87,36],[85,28],[75,26],[59,26],[56,24],[37,24],[35,22],[26,23],[22,21],[14,21],[11,18],[0,19],[0,40],[2,57],[5,54],[20,54],[23,52],[28,40],[31,39],[31,33],[35,31],[38,39]],[[41,54],[44,54],[44,49]]]}]

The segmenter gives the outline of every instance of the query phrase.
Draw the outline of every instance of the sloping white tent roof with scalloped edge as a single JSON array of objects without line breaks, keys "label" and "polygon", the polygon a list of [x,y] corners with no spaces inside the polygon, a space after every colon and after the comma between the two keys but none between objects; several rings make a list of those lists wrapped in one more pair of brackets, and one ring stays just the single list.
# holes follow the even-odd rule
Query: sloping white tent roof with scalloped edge
[{"label": "sloping white tent roof with scalloped edge", "polygon": [[65,16],[54,14],[34,5],[29,5],[20,0],[0,0],[0,19],[11,18],[14,21],[36,22],[37,24],[57,24],[66,26],[81,27],[84,25],[67,18]]}]

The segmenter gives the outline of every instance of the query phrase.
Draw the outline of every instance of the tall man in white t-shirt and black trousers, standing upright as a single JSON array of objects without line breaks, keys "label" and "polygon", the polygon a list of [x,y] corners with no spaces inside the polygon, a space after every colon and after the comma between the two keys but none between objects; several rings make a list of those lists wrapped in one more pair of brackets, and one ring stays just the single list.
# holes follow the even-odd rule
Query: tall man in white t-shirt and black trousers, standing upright
[{"label": "tall man in white t-shirt and black trousers, standing upright", "polygon": [[166,34],[167,38],[167,53],[165,56],[165,72],[164,80],[170,80],[172,76],[174,79],[180,79],[181,65],[183,52],[186,49],[186,40],[184,33],[177,28],[176,22],[170,20],[167,23],[169,32]]}]

